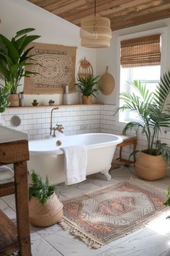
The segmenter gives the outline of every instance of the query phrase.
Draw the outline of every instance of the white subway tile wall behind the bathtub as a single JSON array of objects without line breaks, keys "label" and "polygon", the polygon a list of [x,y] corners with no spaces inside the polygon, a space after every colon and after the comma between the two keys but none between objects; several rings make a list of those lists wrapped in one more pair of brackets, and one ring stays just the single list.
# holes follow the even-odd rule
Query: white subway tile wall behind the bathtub
[{"label": "white subway tile wall behind the bathtub", "polygon": [[[50,133],[50,111],[53,107],[24,107],[24,108],[8,108],[1,119],[4,121],[4,126],[12,129],[17,129],[28,134],[29,140],[42,139]],[[76,135],[88,132],[105,132],[120,135],[123,126],[116,121],[113,116],[115,106],[113,105],[72,105],[59,106],[58,110],[53,111],[53,127],[55,124],[63,124],[65,135]],[[19,127],[13,127],[10,119],[12,116],[20,117],[21,124]],[[129,134],[135,132],[128,132]],[[170,145],[170,133],[162,131],[162,142]],[[138,135],[138,149],[146,148],[145,135]],[[122,156],[128,158],[133,148],[125,147],[122,151]],[[115,153],[115,158],[118,156],[119,148]]]}]

